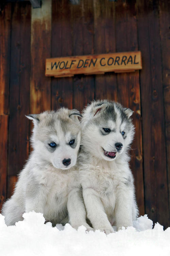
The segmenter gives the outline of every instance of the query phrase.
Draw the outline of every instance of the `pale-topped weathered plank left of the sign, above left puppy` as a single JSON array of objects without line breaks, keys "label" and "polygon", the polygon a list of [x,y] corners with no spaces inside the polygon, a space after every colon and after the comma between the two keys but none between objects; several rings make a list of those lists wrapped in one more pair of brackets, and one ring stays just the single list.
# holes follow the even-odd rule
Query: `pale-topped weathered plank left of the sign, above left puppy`
[{"label": "pale-topped weathered plank left of the sign, above left puppy", "polygon": [[51,0],[31,8],[31,113],[51,109],[51,79],[45,77],[45,60],[51,56]]}]

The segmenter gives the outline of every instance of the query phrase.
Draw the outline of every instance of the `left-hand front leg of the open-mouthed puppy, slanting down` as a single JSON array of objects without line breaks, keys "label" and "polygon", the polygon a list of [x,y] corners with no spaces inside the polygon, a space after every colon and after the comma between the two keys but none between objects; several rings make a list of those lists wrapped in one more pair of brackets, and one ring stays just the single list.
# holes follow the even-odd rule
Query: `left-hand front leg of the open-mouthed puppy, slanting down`
[{"label": "left-hand front leg of the open-mouthed puppy, slanting down", "polygon": [[99,194],[93,188],[83,189],[83,198],[93,228],[104,231],[106,234],[114,232],[104,211]]}]

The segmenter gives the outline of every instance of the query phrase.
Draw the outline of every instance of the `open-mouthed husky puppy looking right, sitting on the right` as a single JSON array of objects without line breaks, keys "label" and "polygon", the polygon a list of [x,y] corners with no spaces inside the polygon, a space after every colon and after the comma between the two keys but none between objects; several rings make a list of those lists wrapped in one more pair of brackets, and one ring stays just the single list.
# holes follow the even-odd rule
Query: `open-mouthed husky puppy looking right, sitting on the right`
[{"label": "open-mouthed husky puppy looking right, sitting on the right", "polygon": [[134,137],[133,111],[114,101],[93,101],[82,115],[79,170],[92,227],[113,232],[133,225],[138,209],[128,150]]}]

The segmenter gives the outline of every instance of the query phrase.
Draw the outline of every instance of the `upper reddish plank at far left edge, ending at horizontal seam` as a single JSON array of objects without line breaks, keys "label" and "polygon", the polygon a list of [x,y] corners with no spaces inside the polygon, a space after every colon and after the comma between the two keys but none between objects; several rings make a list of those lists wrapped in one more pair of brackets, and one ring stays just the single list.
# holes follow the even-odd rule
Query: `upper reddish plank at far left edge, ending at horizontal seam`
[{"label": "upper reddish plank at far left edge, ending at horizontal seam", "polygon": [[10,72],[11,4],[0,15],[0,115],[8,114]]}]

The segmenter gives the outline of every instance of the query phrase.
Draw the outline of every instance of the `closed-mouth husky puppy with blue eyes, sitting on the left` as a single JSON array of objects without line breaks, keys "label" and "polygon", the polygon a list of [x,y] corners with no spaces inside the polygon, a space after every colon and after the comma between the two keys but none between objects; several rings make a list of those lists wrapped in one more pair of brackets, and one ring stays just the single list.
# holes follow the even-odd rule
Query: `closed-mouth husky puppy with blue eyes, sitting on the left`
[{"label": "closed-mouth husky puppy with blue eyes, sitting on the left", "polygon": [[11,199],[3,204],[6,225],[21,221],[24,212],[44,214],[46,221],[78,228],[86,223],[86,210],[78,182],[80,112],[65,108],[28,115],[34,122],[33,152],[19,174]]}]

